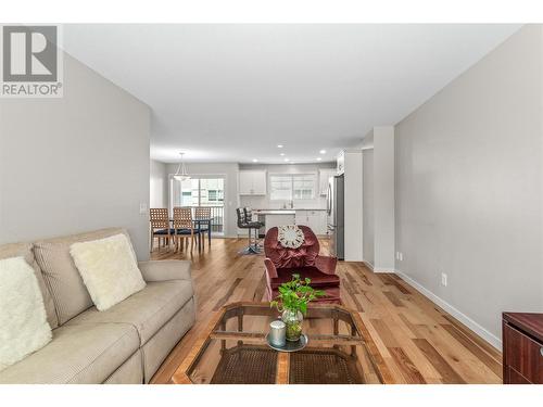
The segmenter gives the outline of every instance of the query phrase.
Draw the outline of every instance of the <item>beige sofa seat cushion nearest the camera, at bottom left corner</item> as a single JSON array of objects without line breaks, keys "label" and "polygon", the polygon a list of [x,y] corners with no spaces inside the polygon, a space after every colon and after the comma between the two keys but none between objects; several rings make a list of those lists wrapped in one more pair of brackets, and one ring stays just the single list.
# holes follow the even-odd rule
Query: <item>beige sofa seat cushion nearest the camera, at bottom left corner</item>
[{"label": "beige sofa seat cushion nearest the camera, at bottom left corner", "polygon": [[0,383],[102,383],[138,347],[130,325],[63,326],[48,345],[0,372]]}]

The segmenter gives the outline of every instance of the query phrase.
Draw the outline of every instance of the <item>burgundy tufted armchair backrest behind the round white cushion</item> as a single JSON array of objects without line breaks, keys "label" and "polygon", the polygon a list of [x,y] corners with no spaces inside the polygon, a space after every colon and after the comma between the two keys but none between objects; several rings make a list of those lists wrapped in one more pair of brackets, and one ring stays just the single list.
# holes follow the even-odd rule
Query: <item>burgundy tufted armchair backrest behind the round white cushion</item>
[{"label": "burgundy tufted armchair backrest behind the round white cushion", "polygon": [[318,239],[307,226],[300,225],[305,241],[298,249],[283,247],[277,240],[277,227],[270,228],[264,238],[264,253],[276,268],[315,266],[320,245]]}]

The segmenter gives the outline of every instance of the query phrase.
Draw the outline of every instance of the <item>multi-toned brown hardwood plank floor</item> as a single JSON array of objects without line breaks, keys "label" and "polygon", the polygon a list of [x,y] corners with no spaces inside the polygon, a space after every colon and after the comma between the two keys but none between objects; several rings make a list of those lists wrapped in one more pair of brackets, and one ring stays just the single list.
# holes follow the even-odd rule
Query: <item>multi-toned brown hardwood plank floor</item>
[{"label": "multi-toned brown hardwood plank floor", "polygon": [[[237,252],[247,239],[213,239],[202,253],[155,251],[153,259],[190,259],[195,326],[177,344],[152,383],[168,383],[214,311],[264,296],[263,255]],[[327,242],[323,241],[321,253]],[[501,383],[502,354],[394,274],[340,262],[343,305],[356,309],[397,383]]]}]

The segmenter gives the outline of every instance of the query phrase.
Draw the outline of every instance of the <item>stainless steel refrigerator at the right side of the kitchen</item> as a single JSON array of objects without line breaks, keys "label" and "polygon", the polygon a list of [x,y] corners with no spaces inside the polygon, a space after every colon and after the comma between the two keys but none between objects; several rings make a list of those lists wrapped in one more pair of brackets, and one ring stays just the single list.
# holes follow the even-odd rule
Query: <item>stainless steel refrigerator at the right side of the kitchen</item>
[{"label": "stainless steel refrigerator at the right side of the kitchen", "polygon": [[330,254],[345,258],[344,176],[330,177],[328,181],[327,211]]}]

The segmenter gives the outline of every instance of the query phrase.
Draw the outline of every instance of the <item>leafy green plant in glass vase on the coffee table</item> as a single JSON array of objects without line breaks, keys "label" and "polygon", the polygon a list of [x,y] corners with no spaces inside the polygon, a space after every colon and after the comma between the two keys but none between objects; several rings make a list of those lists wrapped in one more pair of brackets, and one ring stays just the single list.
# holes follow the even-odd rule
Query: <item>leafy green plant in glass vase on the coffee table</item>
[{"label": "leafy green plant in glass vase on the coffee table", "polygon": [[281,319],[287,326],[287,341],[300,340],[307,304],[326,295],[324,291],[314,290],[310,283],[311,279],[301,280],[300,275],[292,275],[292,280],[279,287],[279,295],[270,303],[270,306],[282,313]]}]

